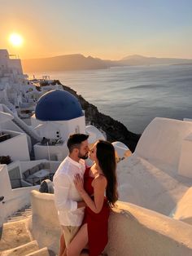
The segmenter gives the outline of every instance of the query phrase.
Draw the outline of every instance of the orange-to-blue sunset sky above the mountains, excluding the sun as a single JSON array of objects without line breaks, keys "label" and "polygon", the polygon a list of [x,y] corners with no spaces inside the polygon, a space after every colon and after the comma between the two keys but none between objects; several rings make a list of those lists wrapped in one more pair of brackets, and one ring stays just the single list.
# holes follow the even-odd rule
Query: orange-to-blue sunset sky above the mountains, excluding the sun
[{"label": "orange-to-blue sunset sky above the mountains, excluding the sun", "polygon": [[[22,36],[20,46],[12,33]],[[0,0],[0,48],[21,59],[192,59],[192,0]]]}]

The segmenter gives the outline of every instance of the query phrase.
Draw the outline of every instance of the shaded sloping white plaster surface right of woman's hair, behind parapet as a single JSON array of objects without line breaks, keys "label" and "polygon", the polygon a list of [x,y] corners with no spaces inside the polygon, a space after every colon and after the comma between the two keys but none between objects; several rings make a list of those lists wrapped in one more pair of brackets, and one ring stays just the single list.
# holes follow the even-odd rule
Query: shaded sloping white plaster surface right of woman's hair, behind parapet
[{"label": "shaded sloping white plaster surface right of woman's hair, behind parapet", "polygon": [[117,165],[120,201],[140,205],[161,214],[169,215],[185,194],[192,180],[184,179],[177,172],[164,170],[142,157],[132,156]]}]

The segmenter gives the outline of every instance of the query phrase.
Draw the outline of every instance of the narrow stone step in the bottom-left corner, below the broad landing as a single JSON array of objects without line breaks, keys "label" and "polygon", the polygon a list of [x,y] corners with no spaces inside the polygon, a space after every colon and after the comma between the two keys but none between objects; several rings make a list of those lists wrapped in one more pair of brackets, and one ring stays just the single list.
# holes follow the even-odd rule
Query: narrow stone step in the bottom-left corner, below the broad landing
[{"label": "narrow stone step in the bottom-left corner, below the broad landing", "polygon": [[20,245],[13,249],[7,249],[2,251],[1,256],[25,256],[30,255],[34,251],[39,249],[37,241],[31,241],[25,245]]}]

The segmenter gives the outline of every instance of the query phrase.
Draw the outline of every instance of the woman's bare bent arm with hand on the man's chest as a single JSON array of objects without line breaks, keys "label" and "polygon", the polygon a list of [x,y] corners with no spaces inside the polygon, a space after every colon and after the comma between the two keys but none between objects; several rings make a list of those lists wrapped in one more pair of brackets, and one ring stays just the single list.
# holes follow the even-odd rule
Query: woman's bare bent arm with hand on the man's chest
[{"label": "woman's bare bent arm with hand on the man's chest", "polygon": [[94,179],[93,187],[94,187],[94,201],[91,197],[85,192],[83,188],[83,180],[80,175],[77,174],[74,180],[77,191],[81,194],[81,197],[85,201],[85,204],[93,210],[95,214],[98,214],[103,207],[105,188],[107,186],[107,179],[104,176],[98,176],[98,178]]}]

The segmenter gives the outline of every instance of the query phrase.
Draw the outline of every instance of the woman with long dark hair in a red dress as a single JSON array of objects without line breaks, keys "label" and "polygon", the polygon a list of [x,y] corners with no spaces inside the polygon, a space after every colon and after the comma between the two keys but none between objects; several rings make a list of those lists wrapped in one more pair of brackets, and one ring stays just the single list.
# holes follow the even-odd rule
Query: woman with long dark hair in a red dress
[{"label": "woman with long dark hair in a red dress", "polygon": [[[113,145],[99,140],[89,152],[94,165],[85,170],[84,182],[76,175],[74,183],[85,204],[85,218],[79,232],[68,246],[68,256],[81,254],[86,245],[89,256],[98,256],[107,245],[107,226],[110,207],[118,199],[116,157]],[[106,193],[106,196],[105,196]]]}]

